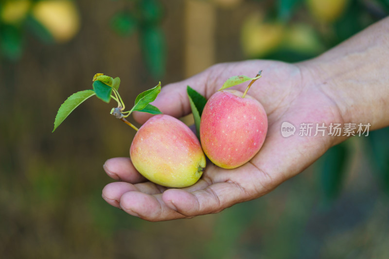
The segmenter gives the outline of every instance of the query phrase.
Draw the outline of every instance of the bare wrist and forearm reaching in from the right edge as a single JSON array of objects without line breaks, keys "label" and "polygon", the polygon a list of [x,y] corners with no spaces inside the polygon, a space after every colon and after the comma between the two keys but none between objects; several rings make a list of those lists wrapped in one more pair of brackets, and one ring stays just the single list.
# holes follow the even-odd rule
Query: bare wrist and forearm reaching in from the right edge
[{"label": "bare wrist and forearm reaching in from the right edge", "polygon": [[372,41],[383,27],[374,25],[301,63],[305,77],[336,104],[343,123],[370,123],[372,130],[389,125],[389,44],[379,36]]}]

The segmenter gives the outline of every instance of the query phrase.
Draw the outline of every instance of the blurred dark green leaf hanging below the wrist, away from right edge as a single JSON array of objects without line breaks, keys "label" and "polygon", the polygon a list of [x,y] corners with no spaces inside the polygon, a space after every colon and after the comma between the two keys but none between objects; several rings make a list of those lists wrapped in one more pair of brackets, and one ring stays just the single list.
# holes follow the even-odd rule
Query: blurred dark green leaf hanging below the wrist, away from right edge
[{"label": "blurred dark green leaf hanging below the wrist, away from right edge", "polygon": [[334,200],[340,193],[343,185],[347,155],[347,143],[344,142],[330,148],[320,158],[322,162],[320,184],[327,201]]}]

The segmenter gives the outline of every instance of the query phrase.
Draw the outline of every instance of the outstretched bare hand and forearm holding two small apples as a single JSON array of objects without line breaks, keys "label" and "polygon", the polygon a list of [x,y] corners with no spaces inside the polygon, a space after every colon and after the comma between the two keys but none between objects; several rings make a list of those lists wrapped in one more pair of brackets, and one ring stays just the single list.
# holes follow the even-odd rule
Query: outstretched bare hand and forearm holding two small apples
[{"label": "outstretched bare hand and forearm holding two small apples", "polygon": [[[264,60],[219,64],[162,88],[154,105],[166,114],[181,117],[191,112],[187,85],[210,98],[229,77],[253,76],[263,69],[263,78],[250,89],[250,95],[264,106],[268,118],[261,151],[233,170],[208,163],[203,177],[184,189],[166,189],[145,181],[128,158],[109,159],[104,165],[106,173],[121,182],[108,184],[103,198],[148,221],[215,213],[266,194],[348,138],[283,138],[283,121],[296,126],[301,122],[369,122],[371,131],[389,126],[388,33],[389,17],[312,60],[299,64]],[[242,91],[245,87],[236,89]],[[147,115],[136,114],[135,119],[143,123]]]}]

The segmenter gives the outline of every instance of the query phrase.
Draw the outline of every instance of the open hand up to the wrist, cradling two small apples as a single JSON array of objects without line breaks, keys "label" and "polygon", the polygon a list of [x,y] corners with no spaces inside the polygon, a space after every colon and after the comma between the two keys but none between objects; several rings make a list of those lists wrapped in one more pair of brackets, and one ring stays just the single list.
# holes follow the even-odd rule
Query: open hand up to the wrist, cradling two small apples
[{"label": "open hand up to the wrist, cradling two small apples", "polygon": [[[104,168],[108,175],[121,181],[108,184],[103,198],[112,206],[148,221],[190,218],[260,197],[300,173],[339,139],[328,134],[314,136],[314,130],[310,137],[298,136],[297,130],[295,135],[283,138],[283,121],[296,126],[302,122],[343,123],[336,103],[323,86],[313,81],[308,65],[263,60],[218,64],[185,81],[163,87],[153,104],[163,113],[179,118],[191,112],[187,85],[208,99],[229,77],[255,76],[263,70],[263,77],[248,92],[264,106],[268,116],[263,147],[236,169],[226,170],[208,162],[202,178],[183,189],[168,189],[149,182],[135,170],[129,158],[112,158]],[[234,88],[244,90],[246,86]],[[135,115],[141,123],[148,118],[147,114]]]}]

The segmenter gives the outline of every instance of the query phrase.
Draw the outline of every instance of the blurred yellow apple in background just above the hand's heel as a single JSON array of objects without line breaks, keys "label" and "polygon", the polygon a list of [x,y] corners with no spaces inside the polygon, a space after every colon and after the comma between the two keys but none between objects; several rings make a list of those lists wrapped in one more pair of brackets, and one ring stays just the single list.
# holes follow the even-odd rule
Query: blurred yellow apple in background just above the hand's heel
[{"label": "blurred yellow apple in background just above the hand's heel", "polygon": [[261,14],[255,13],[243,22],[241,44],[248,57],[263,57],[275,51],[283,41],[284,26],[264,22]]}]

